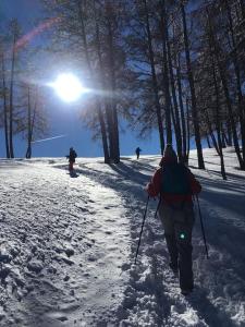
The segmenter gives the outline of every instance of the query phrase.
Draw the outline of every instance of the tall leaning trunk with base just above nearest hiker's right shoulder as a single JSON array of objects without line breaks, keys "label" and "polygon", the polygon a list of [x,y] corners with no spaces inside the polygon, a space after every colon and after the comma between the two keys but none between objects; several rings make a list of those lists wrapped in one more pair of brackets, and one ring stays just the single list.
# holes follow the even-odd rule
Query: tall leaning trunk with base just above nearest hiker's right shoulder
[{"label": "tall leaning trunk with base just above nearest hiker's right shoulder", "polygon": [[193,124],[194,124],[194,131],[195,131],[195,142],[196,142],[196,148],[197,148],[198,167],[199,167],[199,169],[205,169],[203,148],[201,148],[201,142],[200,142],[199,121],[198,121],[197,106],[196,106],[196,92],[195,92],[194,77],[193,77],[193,71],[192,71],[192,65],[191,65],[189,45],[188,45],[187,26],[186,26],[186,14],[185,14],[184,4],[182,2],[181,2],[181,11],[182,11],[182,20],[183,20],[184,45],[185,45],[185,57],[186,57],[188,83],[189,83],[191,95],[192,95],[192,116],[193,116]]}]

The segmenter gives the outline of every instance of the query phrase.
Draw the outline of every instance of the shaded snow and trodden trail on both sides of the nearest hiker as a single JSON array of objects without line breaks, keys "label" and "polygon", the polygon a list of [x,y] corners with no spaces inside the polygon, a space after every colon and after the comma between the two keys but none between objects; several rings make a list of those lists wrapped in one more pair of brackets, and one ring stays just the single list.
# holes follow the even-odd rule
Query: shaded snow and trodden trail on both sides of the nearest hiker
[{"label": "shaded snow and trodden trail on both sides of the nearest hiker", "polygon": [[[205,257],[196,210],[193,240],[196,289],[193,295],[184,298],[180,293],[177,279],[168,268],[162,227],[158,219],[154,219],[157,202],[150,202],[138,264],[137,267],[133,265],[147,198],[143,187],[158,160],[148,157],[137,162],[125,158],[99,174],[103,185],[121,194],[131,221],[131,262],[124,265],[130,282],[118,312],[118,325],[244,326],[245,261],[241,246],[244,244],[245,223],[244,174],[234,179],[231,174],[224,182],[216,171],[210,178],[209,170],[194,170],[204,186],[200,206],[208,232],[210,259]],[[97,169],[96,165],[87,164],[81,165],[79,171],[93,178]],[[231,231],[231,226],[236,228]]]}]

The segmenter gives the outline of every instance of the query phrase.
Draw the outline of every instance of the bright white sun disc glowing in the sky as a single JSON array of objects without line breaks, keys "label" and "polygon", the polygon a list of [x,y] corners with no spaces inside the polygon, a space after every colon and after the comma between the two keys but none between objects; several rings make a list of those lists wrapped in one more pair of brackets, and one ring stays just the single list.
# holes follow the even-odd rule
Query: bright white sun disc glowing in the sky
[{"label": "bright white sun disc glowing in the sky", "polygon": [[53,83],[50,83],[50,86],[65,102],[76,101],[85,92],[79,78],[72,73],[60,74]]}]

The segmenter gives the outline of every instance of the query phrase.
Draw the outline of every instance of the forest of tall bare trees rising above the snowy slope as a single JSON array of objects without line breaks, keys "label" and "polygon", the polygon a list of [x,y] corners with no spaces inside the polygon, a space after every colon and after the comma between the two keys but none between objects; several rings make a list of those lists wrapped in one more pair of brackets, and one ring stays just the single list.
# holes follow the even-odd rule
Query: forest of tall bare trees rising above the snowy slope
[{"label": "forest of tall bare trees rising above the snowy slope", "polygon": [[[0,128],[5,157],[13,136],[32,142],[48,130],[44,70],[51,53],[66,60],[95,89],[78,104],[105,162],[120,162],[120,122],[147,138],[159,134],[159,153],[173,144],[188,162],[191,140],[205,169],[201,141],[220,157],[234,148],[245,170],[245,2],[243,0],[41,0],[29,34],[17,19],[0,25]],[[46,43],[29,45],[35,34]],[[45,53],[45,55],[44,55]],[[53,59],[54,60],[54,59]]]}]

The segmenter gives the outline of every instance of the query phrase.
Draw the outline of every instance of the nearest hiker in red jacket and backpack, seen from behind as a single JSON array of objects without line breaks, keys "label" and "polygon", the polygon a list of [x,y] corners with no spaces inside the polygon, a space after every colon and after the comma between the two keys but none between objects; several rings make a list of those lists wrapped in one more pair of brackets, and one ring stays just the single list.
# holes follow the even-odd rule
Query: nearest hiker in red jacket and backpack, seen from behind
[{"label": "nearest hiker in red jacket and backpack, seen from behind", "polygon": [[192,230],[194,210],[192,195],[201,191],[199,182],[167,145],[159,168],[147,185],[149,196],[160,194],[159,216],[164,229],[170,268],[180,274],[182,294],[193,291]]}]

